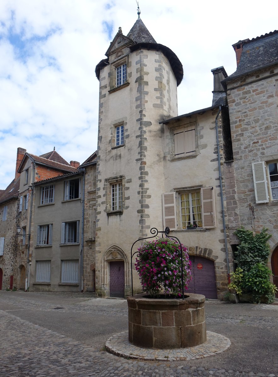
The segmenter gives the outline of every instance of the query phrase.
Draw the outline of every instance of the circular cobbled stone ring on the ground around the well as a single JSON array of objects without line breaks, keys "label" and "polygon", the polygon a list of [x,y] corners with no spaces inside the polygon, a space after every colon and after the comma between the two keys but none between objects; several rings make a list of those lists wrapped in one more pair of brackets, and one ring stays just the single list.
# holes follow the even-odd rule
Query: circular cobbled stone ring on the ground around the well
[{"label": "circular cobbled stone ring on the ground around the well", "polygon": [[142,360],[195,360],[224,352],[231,342],[223,335],[207,331],[207,341],[188,348],[156,349],[134,346],[128,341],[128,331],[111,336],[105,343],[108,352],[128,359]]}]

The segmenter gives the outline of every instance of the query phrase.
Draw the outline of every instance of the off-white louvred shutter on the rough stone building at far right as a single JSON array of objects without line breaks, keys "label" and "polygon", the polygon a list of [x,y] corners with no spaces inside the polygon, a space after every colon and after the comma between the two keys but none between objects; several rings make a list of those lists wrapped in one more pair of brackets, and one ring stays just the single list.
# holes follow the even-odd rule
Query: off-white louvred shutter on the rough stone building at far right
[{"label": "off-white louvred shutter on the rough stone building at far right", "polygon": [[266,169],[264,162],[253,162],[252,170],[256,203],[268,203],[269,195],[267,190]]}]

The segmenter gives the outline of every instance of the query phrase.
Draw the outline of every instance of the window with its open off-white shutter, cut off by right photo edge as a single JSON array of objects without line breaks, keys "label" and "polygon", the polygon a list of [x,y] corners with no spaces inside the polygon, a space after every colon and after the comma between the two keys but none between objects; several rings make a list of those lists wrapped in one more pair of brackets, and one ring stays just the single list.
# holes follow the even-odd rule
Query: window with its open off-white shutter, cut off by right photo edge
[{"label": "window with its open off-white shutter, cut off by right photo edge", "polygon": [[252,170],[256,203],[278,200],[278,161],[253,162]]}]

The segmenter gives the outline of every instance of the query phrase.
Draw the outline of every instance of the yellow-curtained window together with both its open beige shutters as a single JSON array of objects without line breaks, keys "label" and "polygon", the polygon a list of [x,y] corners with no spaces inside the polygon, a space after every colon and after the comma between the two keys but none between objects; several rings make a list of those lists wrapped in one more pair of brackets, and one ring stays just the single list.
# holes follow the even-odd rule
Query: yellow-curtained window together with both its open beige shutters
[{"label": "yellow-curtained window together with both its open beige shutters", "polygon": [[[179,197],[178,210],[176,208],[176,194]],[[190,190],[177,189],[176,192],[162,195],[162,209],[164,227],[170,230],[187,229],[193,224],[196,228],[215,228],[215,199],[213,187],[202,187]]]}]

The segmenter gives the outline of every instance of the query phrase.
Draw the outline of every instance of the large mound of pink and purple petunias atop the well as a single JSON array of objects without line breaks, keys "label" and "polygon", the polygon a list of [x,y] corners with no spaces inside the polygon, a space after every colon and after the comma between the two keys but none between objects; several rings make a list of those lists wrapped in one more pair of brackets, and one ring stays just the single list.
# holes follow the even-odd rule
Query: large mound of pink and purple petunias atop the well
[{"label": "large mound of pink and purple petunias atop the well", "polygon": [[[191,278],[186,247],[182,246],[184,288],[188,288]],[[142,285],[142,290],[157,297],[161,290],[164,294],[181,297],[181,248],[171,238],[157,238],[146,241],[138,248],[139,253],[134,264]]]}]

